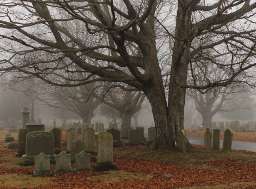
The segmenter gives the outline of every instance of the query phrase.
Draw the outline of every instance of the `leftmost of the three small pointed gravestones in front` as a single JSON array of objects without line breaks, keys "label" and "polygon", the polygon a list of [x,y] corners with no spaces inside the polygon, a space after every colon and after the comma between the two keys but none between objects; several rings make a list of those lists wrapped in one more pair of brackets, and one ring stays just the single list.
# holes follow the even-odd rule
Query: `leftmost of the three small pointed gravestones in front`
[{"label": "leftmost of the three small pointed gravestones in front", "polygon": [[35,171],[33,172],[33,177],[49,175],[52,173],[53,171],[50,167],[50,156],[42,152],[35,156]]}]

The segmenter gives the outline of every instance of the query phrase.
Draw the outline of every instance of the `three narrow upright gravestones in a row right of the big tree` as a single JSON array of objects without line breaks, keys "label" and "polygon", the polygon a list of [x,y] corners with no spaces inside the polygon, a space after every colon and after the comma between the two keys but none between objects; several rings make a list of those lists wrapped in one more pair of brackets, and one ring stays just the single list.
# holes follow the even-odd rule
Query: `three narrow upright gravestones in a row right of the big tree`
[{"label": "three narrow upright gravestones in a row right of the big tree", "polygon": [[[211,136],[212,136],[212,150],[220,149],[220,129],[214,129],[212,134],[210,129],[207,128],[204,133],[204,149],[211,149]],[[231,129],[226,129],[224,131],[224,140],[222,150],[224,152],[230,152],[232,146],[233,132]]]}]

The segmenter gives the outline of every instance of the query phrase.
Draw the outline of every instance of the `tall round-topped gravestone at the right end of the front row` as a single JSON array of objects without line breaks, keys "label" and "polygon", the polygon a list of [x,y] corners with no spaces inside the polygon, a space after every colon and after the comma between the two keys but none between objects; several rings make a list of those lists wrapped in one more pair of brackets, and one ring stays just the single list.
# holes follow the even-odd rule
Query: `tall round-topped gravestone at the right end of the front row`
[{"label": "tall round-topped gravestone at the right end of the front row", "polygon": [[93,164],[93,171],[116,170],[113,163],[113,137],[110,132],[101,132],[97,135],[97,163]]}]

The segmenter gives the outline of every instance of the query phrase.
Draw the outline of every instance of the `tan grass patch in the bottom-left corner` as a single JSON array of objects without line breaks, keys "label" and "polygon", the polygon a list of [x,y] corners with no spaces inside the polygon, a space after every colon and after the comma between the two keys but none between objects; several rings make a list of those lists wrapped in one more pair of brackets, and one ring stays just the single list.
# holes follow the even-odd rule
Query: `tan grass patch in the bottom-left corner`
[{"label": "tan grass patch in the bottom-left corner", "polygon": [[8,187],[19,187],[19,188],[27,188],[27,187],[36,187],[47,184],[54,184],[53,181],[55,178],[53,177],[32,177],[31,175],[23,175],[23,174],[3,174],[0,177],[1,186]]}]

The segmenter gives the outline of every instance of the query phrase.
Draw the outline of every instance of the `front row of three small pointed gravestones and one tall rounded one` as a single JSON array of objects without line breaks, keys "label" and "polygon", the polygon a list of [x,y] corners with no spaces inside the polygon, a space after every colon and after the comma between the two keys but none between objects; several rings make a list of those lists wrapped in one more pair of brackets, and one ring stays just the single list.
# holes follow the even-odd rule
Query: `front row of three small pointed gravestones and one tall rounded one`
[{"label": "front row of three small pointed gravestones and one tall rounded one", "polygon": [[[79,139],[73,143],[78,144],[81,149],[84,148],[84,145],[80,145],[82,142]],[[101,132],[97,135],[97,163],[93,164],[93,171],[107,171],[116,169],[116,164],[113,163],[112,143],[113,136],[110,132]],[[34,161],[35,171],[33,172],[33,176],[41,176],[52,173],[57,174],[64,171],[77,172],[82,170],[92,170],[90,167],[90,154],[86,153],[84,150],[75,153],[75,169],[71,169],[72,153],[67,154],[65,152],[61,152],[60,154],[55,155],[56,170],[54,171],[50,170],[50,155],[40,153],[39,155],[34,156]]]}]

